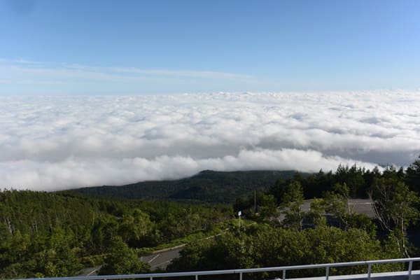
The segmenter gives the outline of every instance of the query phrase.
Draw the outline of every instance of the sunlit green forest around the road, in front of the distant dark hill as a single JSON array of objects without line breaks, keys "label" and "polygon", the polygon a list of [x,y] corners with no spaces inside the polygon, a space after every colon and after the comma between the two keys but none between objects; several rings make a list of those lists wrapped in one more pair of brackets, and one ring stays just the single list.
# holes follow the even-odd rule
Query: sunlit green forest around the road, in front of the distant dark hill
[{"label": "sunlit green forest around the road, in front of the distant dark hill", "polygon": [[[145,195],[139,200],[116,195],[118,187],[105,188],[101,196],[94,194],[97,190],[92,195],[2,190],[0,278],[76,276],[80,269],[95,265],[102,266],[99,274],[150,272],[140,255],[179,244],[188,245],[167,271],[420,255],[419,244],[415,244],[420,232],[420,157],[407,169],[386,167],[379,171],[355,165],[316,174],[271,172],[276,176],[276,180],[269,179],[271,183],[267,183],[266,172],[237,175],[242,179],[232,174],[219,179],[217,174],[204,174],[213,176],[211,184],[218,195],[212,194],[211,199],[179,195],[180,201],[172,201],[170,195],[167,199],[165,195]],[[252,180],[243,179],[251,176]],[[265,186],[253,186],[259,176],[265,178],[260,180]],[[239,186],[230,192],[226,186],[234,186],[235,180]],[[206,185],[209,180],[201,178],[201,182],[190,182],[184,190],[204,188],[211,193],[212,188]],[[157,186],[165,193],[163,184]],[[112,194],[106,195],[106,190]],[[349,203],[354,197],[372,200],[374,218],[354,211]],[[307,200],[310,208],[304,210]],[[332,274],[346,269],[354,272],[358,268]],[[373,269],[378,272],[390,267]]]}]

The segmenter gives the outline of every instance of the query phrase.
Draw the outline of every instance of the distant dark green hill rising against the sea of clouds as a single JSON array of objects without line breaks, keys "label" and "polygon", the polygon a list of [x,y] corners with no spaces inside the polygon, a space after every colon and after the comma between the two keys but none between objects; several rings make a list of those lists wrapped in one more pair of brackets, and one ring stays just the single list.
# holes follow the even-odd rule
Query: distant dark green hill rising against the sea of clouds
[{"label": "distant dark green hill rising against the sea of clouds", "polygon": [[146,200],[188,200],[200,202],[235,202],[253,190],[273,186],[278,179],[290,179],[294,171],[202,171],[186,179],[147,181],[125,186],[102,186],[71,190],[85,195]]}]

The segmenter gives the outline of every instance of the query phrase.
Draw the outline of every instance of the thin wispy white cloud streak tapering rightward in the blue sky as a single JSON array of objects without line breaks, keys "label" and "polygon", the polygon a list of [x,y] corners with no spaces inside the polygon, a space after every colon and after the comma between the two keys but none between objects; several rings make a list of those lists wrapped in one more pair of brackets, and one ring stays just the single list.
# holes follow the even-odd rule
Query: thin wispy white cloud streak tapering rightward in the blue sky
[{"label": "thin wispy white cloud streak tapering rightward in the blue sky", "polygon": [[0,94],[162,94],[266,88],[273,81],[245,73],[197,69],[90,66],[0,60]]}]

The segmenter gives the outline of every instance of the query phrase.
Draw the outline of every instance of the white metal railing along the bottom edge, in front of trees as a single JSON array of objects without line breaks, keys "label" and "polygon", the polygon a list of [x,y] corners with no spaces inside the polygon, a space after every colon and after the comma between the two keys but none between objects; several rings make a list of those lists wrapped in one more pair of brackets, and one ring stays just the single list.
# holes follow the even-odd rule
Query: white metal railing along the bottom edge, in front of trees
[{"label": "white metal railing along the bottom edge, in front of trees", "polygon": [[[261,267],[261,268],[249,268],[249,269],[227,269],[227,270],[209,270],[199,272],[167,272],[167,273],[148,273],[148,274],[125,274],[125,275],[101,275],[101,276],[73,276],[73,277],[53,277],[43,278],[43,280],[113,280],[113,279],[150,279],[153,278],[167,278],[167,277],[179,277],[179,276],[195,276],[195,280],[198,280],[198,276],[204,275],[221,275],[221,274],[239,274],[239,280],[242,280],[244,273],[255,273],[255,272],[282,272],[282,279],[286,279],[286,272],[290,270],[300,269],[316,269],[325,268],[325,280],[328,280],[330,276],[331,267],[349,267],[357,265],[367,265],[366,278],[370,279],[372,275],[372,265],[386,264],[386,263],[407,263],[407,276],[412,275],[413,262],[420,262],[420,258],[398,258],[392,260],[365,260],[358,262],[335,262],[335,263],[323,263],[318,265],[293,265],[284,267]],[[350,274],[351,275],[351,274]],[[309,277],[308,277],[309,278]],[[24,279],[19,279],[24,280]],[[38,280],[36,278],[25,279],[25,280]]]}]

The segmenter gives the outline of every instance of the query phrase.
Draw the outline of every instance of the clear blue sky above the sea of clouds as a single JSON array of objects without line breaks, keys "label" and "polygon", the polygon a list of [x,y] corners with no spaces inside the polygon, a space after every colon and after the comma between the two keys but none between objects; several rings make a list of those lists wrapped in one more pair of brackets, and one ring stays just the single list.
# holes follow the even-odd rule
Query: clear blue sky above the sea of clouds
[{"label": "clear blue sky above the sea of clouds", "polygon": [[420,1],[0,1],[0,94],[420,87]]}]

